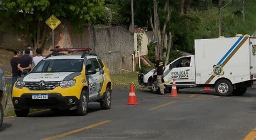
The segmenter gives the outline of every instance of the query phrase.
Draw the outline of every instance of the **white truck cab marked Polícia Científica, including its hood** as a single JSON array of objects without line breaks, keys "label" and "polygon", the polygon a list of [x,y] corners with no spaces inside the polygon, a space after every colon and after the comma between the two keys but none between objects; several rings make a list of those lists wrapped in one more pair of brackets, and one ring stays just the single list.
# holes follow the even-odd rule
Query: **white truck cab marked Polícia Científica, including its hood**
[{"label": "white truck cab marked Pol\u00edcia Cient\u00edfica, including its hood", "polygon": [[[153,93],[157,93],[159,88],[154,86],[157,85],[157,77],[156,75],[152,77],[153,72],[154,70],[150,70],[141,74],[143,76],[139,77],[139,83],[144,86],[152,86],[150,90]],[[196,86],[194,55],[179,57],[165,66],[163,82],[166,82],[165,86],[168,90],[172,86],[172,79],[176,79],[178,89]]]}]

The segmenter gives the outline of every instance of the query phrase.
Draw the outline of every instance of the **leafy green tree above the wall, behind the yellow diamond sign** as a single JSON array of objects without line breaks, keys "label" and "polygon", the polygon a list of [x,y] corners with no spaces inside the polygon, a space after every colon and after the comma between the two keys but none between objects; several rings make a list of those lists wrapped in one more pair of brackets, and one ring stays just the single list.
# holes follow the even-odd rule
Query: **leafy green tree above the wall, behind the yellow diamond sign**
[{"label": "leafy green tree above the wall, behind the yellow diamond sign", "polygon": [[71,21],[77,33],[84,26],[109,22],[104,0],[2,0],[0,6],[0,31],[27,34],[35,49],[44,45],[48,28],[44,22],[51,14]]}]

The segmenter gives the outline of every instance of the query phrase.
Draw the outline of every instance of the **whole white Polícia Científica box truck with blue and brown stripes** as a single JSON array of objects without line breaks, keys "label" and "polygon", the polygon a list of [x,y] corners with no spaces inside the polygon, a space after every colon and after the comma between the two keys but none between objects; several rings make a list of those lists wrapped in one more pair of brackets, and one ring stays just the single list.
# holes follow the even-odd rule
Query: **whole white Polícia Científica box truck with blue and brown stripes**
[{"label": "whole white Pol\u00edcia Cient\u00edfica box truck with blue and brown stripes", "polygon": [[[167,89],[176,79],[177,89],[214,87],[221,96],[242,95],[247,87],[256,88],[256,37],[199,39],[195,55],[179,57],[166,65],[163,82]],[[159,91],[154,70],[139,74],[139,84]]]}]

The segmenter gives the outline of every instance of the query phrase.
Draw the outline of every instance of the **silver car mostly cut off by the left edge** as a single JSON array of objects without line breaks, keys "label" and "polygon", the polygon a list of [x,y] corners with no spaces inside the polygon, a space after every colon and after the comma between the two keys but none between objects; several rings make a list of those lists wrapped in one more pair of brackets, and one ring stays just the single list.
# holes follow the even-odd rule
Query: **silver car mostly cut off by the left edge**
[{"label": "silver car mostly cut off by the left edge", "polygon": [[0,127],[3,124],[4,109],[6,107],[6,87],[4,84],[4,72],[0,69]]}]

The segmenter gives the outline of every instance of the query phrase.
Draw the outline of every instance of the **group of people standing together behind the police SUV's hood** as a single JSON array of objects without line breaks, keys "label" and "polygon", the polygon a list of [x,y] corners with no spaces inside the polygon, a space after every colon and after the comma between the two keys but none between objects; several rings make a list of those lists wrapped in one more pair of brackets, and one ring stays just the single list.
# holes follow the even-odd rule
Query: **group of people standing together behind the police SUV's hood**
[{"label": "group of people standing together behind the police SUV's hood", "polygon": [[31,68],[43,60],[42,49],[36,49],[36,56],[33,56],[32,47],[28,46],[23,51],[15,50],[14,57],[11,58],[12,85],[18,77],[28,74]]}]

